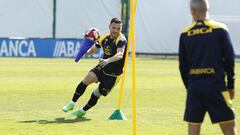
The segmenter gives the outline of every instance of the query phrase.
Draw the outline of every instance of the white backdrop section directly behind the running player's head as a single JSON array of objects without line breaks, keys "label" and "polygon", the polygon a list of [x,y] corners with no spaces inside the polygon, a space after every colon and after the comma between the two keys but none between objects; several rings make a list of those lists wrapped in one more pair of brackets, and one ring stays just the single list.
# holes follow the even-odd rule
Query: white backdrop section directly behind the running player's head
[{"label": "white backdrop section directly behind the running player's head", "polygon": [[91,27],[108,32],[113,17],[120,17],[120,0],[57,1],[56,37],[81,38]]}]

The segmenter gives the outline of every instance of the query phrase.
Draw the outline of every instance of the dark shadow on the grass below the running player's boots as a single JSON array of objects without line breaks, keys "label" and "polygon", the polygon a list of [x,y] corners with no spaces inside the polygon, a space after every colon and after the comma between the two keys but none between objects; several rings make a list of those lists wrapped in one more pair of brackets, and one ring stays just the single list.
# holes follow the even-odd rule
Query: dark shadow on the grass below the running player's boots
[{"label": "dark shadow on the grass below the running player's boots", "polygon": [[65,119],[62,118],[55,118],[54,120],[27,120],[27,121],[19,121],[19,123],[37,123],[37,124],[64,124],[64,123],[77,123],[77,122],[85,122],[90,121],[91,119],[81,117],[75,119]]}]

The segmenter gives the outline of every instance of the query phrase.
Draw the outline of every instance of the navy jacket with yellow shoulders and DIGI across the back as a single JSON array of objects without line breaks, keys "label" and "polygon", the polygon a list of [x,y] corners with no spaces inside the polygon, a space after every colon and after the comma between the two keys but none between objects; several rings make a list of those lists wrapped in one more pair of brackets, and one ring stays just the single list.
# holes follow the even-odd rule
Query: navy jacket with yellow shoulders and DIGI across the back
[{"label": "navy jacket with yellow shoulders and DIGI across the back", "polygon": [[228,30],[222,23],[198,20],[181,34],[179,69],[186,88],[196,79],[213,78],[222,89],[234,89],[234,57]]}]

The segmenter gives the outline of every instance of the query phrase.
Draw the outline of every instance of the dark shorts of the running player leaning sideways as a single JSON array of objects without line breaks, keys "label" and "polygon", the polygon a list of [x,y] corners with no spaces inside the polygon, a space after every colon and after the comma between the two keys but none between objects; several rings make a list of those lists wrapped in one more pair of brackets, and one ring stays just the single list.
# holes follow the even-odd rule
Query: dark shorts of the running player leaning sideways
[{"label": "dark shorts of the running player leaning sideways", "polygon": [[97,76],[98,81],[100,82],[98,89],[99,93],[103,96],[107,96],[112,88],[119,82],[120,76],[106,74],[98,65],[91,71]]}]

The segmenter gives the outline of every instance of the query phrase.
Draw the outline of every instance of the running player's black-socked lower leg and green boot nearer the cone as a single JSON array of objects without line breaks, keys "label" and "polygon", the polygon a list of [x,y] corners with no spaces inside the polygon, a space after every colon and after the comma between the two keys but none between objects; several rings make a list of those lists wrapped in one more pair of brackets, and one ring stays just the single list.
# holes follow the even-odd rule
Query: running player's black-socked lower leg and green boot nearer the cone
[{"label": "running player's black-socked lower leg and green boot nearer the cone", "polygon": [[95,90],[92,93],[91,98],[89,99],[88,103],[83,108],[72,113],[72,115],[76,116],[76,117],[83,117],[86,114],[87,110],[89,110],[90,108],[92,108],[93,106],[95,106],[97,104],[97,101],[100,98],[100,96],[101,96],[101,94],[98,92],[98,90]]}]

